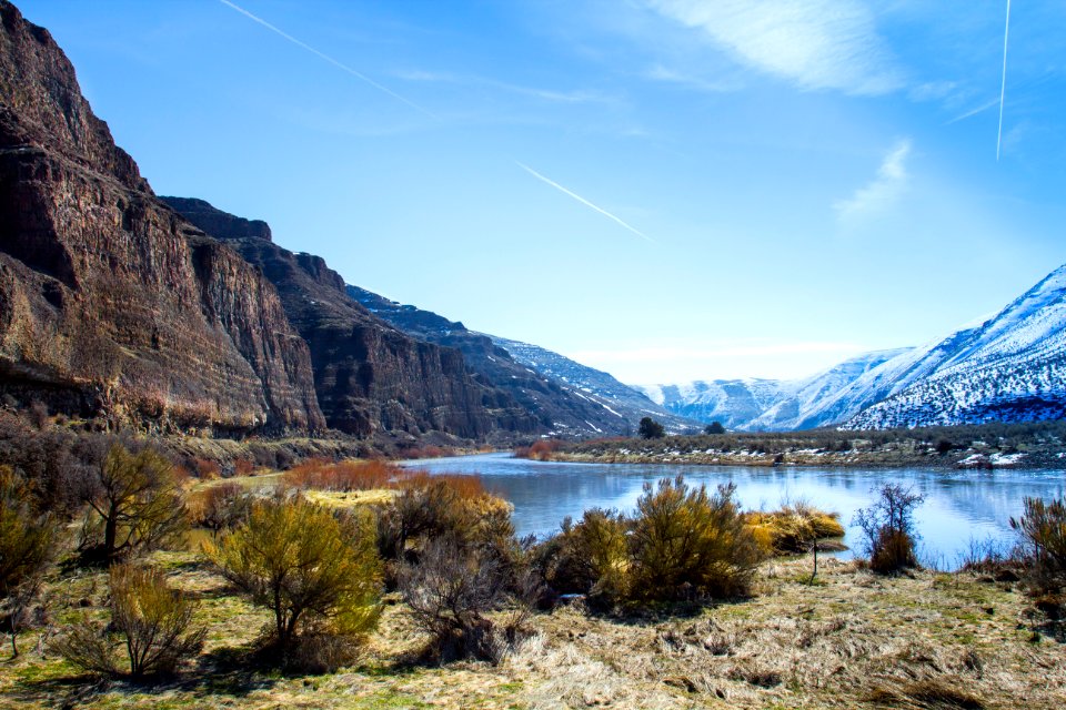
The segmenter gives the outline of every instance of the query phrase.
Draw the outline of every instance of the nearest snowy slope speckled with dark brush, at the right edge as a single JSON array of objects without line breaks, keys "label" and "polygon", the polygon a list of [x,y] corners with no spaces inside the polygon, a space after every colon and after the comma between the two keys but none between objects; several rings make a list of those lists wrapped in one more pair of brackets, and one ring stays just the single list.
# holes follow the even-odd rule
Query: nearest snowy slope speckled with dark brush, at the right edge
[{"label": "nearest snowy slope speckled with dark brush, at the right edge", "polygon": [[[1066,412],[1066,266],[995,317],[923,348],[911,368],[886,363],[889,390],[847,428],[1033,420]],[[921,372],[921,376],[915,376]]]}]

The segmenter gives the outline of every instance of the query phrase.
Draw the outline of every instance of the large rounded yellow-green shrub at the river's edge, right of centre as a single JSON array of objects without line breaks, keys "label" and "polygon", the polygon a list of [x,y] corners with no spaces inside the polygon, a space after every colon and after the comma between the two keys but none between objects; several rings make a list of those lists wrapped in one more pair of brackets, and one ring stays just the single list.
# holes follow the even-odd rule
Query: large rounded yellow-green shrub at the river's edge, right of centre
[{"label": "large rounded yellow-green shrub at the river's edge, right of centre", "polygon": [[733,503],[736,487],[690,488],[678,476],[645,484],[632,527],[634,599],[694,595],[731,597],[748,590],[762,560],[755,538]]}]

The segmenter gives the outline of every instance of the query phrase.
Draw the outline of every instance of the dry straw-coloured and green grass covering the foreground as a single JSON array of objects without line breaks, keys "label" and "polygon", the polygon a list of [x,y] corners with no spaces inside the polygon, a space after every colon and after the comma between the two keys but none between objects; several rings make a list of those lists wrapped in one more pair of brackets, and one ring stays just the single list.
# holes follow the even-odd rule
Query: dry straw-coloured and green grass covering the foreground
[{"label": "dry straw-coloured and green grass covering the foreground", "polygon": [[[359,663],[324,676],[254,670],[266,613],[193,552],[157,552],[200,601],[204,651],[171,681],[139,687],[79,674],[42,636],[0,663],[8,708],[1034,708],[1066,707],[1066,646],[1012,582],[931,571],[876,577],[854,562],[763,565],[756,595],[661,616],[580,606],[539,613],[499,666],[416,661],[424,643],[393,595]],[[58,575],[58,572],[57,572]],[[54,577],[52,628],[102,613],[103,572]]]}]

